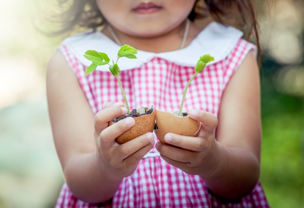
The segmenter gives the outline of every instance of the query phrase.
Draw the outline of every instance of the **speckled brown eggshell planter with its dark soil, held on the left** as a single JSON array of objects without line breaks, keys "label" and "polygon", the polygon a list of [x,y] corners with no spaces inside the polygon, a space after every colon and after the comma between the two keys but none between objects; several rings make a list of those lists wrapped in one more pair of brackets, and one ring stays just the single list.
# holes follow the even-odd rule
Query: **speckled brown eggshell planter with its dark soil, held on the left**
[{"label": "speckled brown eggshell planter with its dark soil, held on the left", "polygon": [[116,138],[119,144],[124,144],[148,132],[153,132],[155,126],[155,111],[153,106],[150,108],[141,107],[137,110],[133,109],[129,114],[109,121],[109,126],[127,117],[133,117],[135,124],[131,129]]}]

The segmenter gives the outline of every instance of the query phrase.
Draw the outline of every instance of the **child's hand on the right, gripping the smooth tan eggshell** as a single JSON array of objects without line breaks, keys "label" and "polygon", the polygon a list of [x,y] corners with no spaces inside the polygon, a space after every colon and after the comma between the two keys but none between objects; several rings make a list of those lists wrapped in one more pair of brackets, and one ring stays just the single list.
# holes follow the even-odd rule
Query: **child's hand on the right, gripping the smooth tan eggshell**
[{"label": "child's hand on the right, gripping the smooth tan eggshell", "polygon": [[176,168],[187,174],[208,177],[216,170],[220,152],[215,140],[217,117],[196,109],[189,111],[189,116],[201,122],[197,137],[168,133],[165,141],[173,146],[158,142],[156,148],[162,158]]}]

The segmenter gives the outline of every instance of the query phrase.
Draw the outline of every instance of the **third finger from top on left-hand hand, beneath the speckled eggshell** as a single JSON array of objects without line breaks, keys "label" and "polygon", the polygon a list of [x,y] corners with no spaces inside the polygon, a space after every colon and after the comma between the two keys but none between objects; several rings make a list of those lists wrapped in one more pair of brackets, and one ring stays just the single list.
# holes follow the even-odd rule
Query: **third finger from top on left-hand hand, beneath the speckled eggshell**
[{"label": "third finger from top on left-hand hand, beneath the speckled eggshell", "polygon": [[147,134],[141,135],[135,139],[130,140],[129,142],[118,146],[118,156],[121,160],[123,160],[139,149],[150,144],[151,142],[154,142],[154,135],[152,133],[149,132]]}]

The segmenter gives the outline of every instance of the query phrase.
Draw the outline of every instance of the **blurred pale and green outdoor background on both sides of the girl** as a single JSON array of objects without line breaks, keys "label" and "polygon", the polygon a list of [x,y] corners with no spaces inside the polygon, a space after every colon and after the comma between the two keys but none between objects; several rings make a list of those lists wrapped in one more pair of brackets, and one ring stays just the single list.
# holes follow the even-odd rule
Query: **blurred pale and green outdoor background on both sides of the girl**
[{"label": "blurred pale and green outdoor background on both sides of the girl", "polygon": [[[265,0],[264,0],[265,1]],[[37,1],[0,2],[0,207],[54,207],[63,176],[45,68],[59,39],[33,23]],[[304,207],[304,2],[261,14],[261,183],[272,207]]]}]

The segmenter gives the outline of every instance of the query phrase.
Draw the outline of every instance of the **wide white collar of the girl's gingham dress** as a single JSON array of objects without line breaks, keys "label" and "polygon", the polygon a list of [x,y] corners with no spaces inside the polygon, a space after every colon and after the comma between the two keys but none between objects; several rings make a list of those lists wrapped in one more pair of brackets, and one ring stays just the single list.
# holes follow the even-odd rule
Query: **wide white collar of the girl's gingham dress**
[{"label": "wide white collar of the girl's gingham dress", "polygon": [[[137,68],[154,57],[163,58],[182,66],[195,66],[199,57],[204,54],[213,56],[215,61],[211,62],[211,64],[214,64],[229,55],[242,35],[243,32],[234,27],[223,26],[217,22],[212,22],[198,34],[190,45],[183,49],[164,53],[152,53],[139,50],[137,59],[124,58],[123,61],[120,61],[119,66],[121,70]],[[91,62],[83,56],[87,50],[104,52],[110,59],[115,59],[120,49],[119,45],[99,31],[83,32],[67,37],[62,41],[62,45],[66,46],[70,53],[85,66],[91,64]],[[107,65],[104,65],[98,66],[96,70],[108,71],[109,69]]]}]

